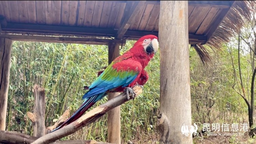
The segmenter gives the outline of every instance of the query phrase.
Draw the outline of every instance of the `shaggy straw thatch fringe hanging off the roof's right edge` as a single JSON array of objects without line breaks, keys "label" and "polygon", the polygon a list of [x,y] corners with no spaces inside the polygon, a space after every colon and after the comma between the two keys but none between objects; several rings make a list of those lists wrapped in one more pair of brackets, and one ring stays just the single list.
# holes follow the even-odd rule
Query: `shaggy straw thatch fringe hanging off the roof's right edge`
[{"label": "shaggy straw thatch fringe hanging off the roof's right edge", "polygon": [[[256,1],[235,1],[230,11],[220,23],[213,36],[207,42],[212,50],[221,50],[224,42],[229,42],[231,37],[239,34],[241,28],[249,21],[255,13]],[[203,63],[209,63],[211,57],[205,45],[192,45],[199,53],[199,57]]]}]

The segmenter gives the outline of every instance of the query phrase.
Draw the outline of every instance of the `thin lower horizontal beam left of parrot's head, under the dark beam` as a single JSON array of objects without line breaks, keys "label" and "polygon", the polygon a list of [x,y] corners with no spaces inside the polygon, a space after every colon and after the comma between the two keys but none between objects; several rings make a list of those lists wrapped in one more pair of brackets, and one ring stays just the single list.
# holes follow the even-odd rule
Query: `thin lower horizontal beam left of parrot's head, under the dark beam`
[{"label": "thin lower horizontal beam left of parrot's head, under the dark beam", "polygon": [[117,43],[125,45],[126,40],[117,39],[98,39],[85,37],[52,37],[52,36],[29,36],[29,35],[14,35],[0,34],[0,37],[18,41],[30,42],[54,42],[54,43],[70,43],[70,44],[91,44],[91,45],[108,45],[109,43]]}]

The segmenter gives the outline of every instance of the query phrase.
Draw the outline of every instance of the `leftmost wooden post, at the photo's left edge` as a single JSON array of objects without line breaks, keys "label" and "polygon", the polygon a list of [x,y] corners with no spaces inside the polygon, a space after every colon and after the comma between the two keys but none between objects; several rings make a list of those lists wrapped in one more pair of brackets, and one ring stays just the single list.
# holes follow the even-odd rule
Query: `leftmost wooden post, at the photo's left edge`
[{"label": "leftmost wooden post, at the photo's left edge", "polygon": [[11,39],[0,38],[0,130],[5,131],[11,66]]}]

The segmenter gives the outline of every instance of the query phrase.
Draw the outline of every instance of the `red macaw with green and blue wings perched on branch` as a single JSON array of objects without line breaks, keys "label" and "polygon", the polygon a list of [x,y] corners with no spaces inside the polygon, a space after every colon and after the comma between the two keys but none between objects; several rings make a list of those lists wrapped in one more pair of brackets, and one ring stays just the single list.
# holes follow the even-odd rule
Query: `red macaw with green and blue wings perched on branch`
[{"label": "red macaw with green and blue wings perched on branch", "polygon": [[157,39],[154,35],[143,36],[130,50],[115,58],[88,87],[89,91],[83,95],[84,102],[81,107],[53,131],[77,120],[109,92],[126,91],[127,99],[130,99],[129,92],[134,98],[135,93],[131,87],[136,84],[143,86],[147,82],[148,74],[144,68],[158,50]]}]

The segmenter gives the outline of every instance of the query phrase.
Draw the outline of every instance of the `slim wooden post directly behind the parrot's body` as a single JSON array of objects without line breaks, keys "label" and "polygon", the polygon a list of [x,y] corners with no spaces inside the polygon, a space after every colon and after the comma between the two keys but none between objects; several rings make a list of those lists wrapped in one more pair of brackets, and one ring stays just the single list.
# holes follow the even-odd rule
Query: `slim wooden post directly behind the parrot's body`
[{"label": "slim wooden post directly behind the parrot's body", "polygon": [[[119,45],[117,43],[109,43],[109,64],[120,55]],[[119,95],[118,92],[110,93],[108,99],[113,99]],[[113,144],[121,144],[121,128],[120,128],[120,106],[113,108],[108,112],[108,142]]]}]

